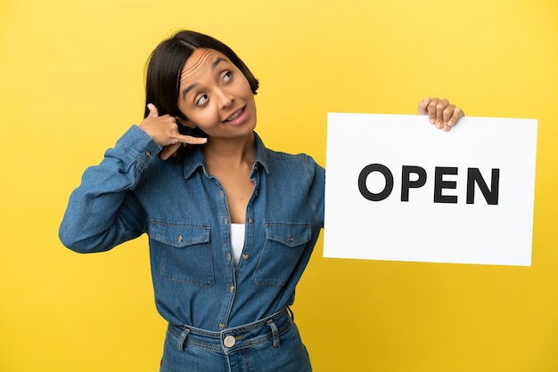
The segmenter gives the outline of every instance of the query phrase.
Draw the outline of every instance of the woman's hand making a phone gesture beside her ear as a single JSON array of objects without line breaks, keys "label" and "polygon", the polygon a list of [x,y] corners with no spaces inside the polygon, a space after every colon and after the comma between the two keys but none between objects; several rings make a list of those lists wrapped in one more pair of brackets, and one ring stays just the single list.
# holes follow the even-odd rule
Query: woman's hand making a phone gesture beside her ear
[{"label": "woman's hand making a phone gesture beside her ear", "polygon": [[149,109],[149,115],[144,118],[139,126],[152,137],[153,141],[164,148],[160,153],[161,159],[167,160],[173,156],[183,144],[201,145],[208,142],[207,138],[181,134],[178,131],[176,117],[170,115],[160,117],[159,110],[154,104],[149,103],[147,108]]}]

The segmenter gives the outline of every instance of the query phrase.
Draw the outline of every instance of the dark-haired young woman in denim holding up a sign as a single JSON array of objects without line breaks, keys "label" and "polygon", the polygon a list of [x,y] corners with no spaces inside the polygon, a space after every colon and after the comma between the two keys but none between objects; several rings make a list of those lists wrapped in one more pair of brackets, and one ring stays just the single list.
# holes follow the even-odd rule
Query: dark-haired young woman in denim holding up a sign
[{"label": "dark-haired young woman in denim holding up a sign", "polygon": [[[161,371],[310,371],[289,306],[324,225],[324,168],[264,146],[258,80],[216,39],[176,33],[146,79],[144,121],[86,169],[63,244],[100,252],[148,234]],[[437,99],[419,113],[445,130],[464,115]]]}]

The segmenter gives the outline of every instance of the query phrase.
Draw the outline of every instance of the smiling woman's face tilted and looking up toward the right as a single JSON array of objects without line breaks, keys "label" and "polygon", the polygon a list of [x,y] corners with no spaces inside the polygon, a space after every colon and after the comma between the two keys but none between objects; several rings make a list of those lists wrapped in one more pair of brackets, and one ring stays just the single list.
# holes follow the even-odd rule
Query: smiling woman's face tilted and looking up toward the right
[{"label": "smiling woman's face tilted and looking up toward the right", "polygon": [[213,49],[196,49],[180,77],[178,109],[209,137],[235,138],[256,127],[256,103],[242,71]]}]

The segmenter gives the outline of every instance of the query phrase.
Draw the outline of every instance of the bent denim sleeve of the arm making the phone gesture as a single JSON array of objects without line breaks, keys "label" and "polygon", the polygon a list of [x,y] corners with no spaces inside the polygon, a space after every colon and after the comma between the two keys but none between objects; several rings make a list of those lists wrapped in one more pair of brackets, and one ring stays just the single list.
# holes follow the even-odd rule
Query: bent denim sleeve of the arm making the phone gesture
[{"label": "bent denim sleeve of the arm making the phone gesture", "polygon": [[160,150],[133,125],[98,166],[88,167],[62,218],[62,244],[79,253],[102,252],[142,235],[146,215],[133,190]]}]

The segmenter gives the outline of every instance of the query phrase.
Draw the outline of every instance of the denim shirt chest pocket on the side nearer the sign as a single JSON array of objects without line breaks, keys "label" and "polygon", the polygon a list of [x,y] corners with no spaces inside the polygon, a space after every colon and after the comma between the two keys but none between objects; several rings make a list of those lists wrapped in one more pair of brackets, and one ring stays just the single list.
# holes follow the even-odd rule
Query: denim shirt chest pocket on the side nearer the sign
[{"label": "denim shirt chest pocket on the side nearer the sign", "polygon": [[310,223],[267,222],[266,242],[254,271],[258,286],[283,286],[304,253],[312,237]]}]

